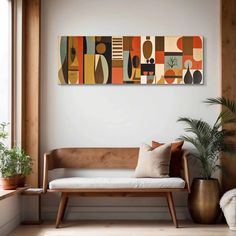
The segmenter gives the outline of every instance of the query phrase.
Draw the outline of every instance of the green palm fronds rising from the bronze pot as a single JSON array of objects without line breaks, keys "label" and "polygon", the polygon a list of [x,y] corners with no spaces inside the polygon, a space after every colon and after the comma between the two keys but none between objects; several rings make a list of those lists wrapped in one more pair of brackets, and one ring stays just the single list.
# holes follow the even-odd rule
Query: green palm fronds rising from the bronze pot
[{"label": "green palm fronds rising from the bronze pot", "polygon": [[235,152],[236,147],[229,138],[235,135],[235,130],[227,130],[225,125],[236,123],[235,103],[226,98],[209,98],[205,101],[208,104],[220,104],[225,107],[220,112],[213,126],[203,120],[181,117],[178,119],[184,122],[187,127],[185,131],[192,135],[182,135],[180,140],[191,143],[196,151],[193,156],[200,161],[204,179],[210,179],[212,174],[219,168],[217,163],[220,152]]}]

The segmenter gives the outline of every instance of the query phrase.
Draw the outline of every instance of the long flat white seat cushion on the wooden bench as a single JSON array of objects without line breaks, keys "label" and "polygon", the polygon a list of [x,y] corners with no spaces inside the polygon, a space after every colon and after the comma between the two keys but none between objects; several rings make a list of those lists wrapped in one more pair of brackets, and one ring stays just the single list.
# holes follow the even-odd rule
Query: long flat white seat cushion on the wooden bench
[{"label": "long flat white seat cushion on the wooden bench", "polygon": [[71,177],[52,180],[50,189],[117,189],[117,188],[184,188],[181,178],[84,178]]}]

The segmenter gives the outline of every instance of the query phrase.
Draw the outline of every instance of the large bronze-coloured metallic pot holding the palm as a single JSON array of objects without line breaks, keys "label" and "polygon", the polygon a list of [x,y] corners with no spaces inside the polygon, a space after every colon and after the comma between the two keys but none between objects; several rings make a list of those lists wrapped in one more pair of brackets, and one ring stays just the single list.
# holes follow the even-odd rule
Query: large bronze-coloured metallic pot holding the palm
[{"label": "large bronze-coloured metallic pot holding the palm", "polygon": [[218,179],[194,179],[188,198],[192,219],[200,224],[215,223],[219,215],[220,186]]}]

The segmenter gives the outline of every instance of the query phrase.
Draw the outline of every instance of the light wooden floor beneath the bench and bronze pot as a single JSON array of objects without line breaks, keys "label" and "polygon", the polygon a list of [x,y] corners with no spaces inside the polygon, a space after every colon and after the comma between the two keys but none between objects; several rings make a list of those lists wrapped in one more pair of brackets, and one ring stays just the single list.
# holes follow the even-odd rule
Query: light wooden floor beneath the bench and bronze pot
[{"label": "light wooden floor beneath the bench and bronze pot", "polygon": [[54,222],[42,225],[21,225],[10,236],[236,236],[227,225],[198,225],[180,222],[176,229],[171,222],[160,221],[68,221],[55,229]]}]

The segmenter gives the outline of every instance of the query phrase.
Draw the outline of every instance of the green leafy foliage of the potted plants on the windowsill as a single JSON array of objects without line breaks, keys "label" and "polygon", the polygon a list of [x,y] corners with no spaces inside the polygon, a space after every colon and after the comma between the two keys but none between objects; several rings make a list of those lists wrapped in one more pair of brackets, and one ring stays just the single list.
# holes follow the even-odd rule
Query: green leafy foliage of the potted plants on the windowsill
[{"label": "green leafy foliage of the potted plants on the windowsill", "polygon": [[3,178],[16,174],[29,175],[32,172],[32,158],[24,150],[8,148],[4,141],[8,137],[7,123],[0,123],[0,174]]}]

